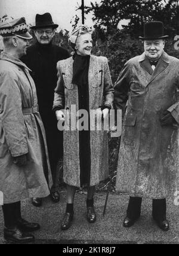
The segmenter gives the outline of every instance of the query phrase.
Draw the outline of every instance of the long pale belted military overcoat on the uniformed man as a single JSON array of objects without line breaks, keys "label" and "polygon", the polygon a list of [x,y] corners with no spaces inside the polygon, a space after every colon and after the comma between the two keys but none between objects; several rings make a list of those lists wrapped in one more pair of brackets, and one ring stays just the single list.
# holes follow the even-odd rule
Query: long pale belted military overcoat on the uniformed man
[{"label": "long pale belted military overcoat on the uniformed man", "polygon": [[[44,176],[50,173],[45,130],[39,112],[35,84],[23,62],[7,53],[0,60],[0,191],[4,203],[28,197],[46,197]],[[28,108],[28,109],[27,109]],[[28,110],[28,111],[27,111]],[[13,157],[27,154],[27,164],[18,167]],[[49,174],[48,181],[51,184]]]}]

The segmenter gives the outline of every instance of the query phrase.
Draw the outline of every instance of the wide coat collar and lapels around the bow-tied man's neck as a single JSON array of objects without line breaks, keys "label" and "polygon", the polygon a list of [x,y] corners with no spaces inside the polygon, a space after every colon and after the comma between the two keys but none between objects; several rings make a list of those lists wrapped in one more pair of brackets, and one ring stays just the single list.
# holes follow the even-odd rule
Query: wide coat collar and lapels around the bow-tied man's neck
[{"label": "wide coat collar and lapels around the bow-tied man's neck", "polygon": [[156,66],[155,70],[153,71],[149,59],[146,57],[146,53],[141,54],[139,60],[141,68],[144,68],[149,74],[151,75],[150,83],[158,77],[169,65],[169,57],[168,54],[163,51],[161,58],[159,59],[158,65]]}]

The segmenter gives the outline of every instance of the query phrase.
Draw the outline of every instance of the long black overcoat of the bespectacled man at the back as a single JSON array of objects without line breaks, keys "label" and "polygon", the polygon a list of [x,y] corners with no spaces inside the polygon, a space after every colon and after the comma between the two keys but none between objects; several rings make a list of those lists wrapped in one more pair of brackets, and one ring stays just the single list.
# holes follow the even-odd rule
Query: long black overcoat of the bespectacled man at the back
[{"label": "long black overcoat of the bespectacled man at the back", "polygon": [[63,132],[57,129],[53,108],[54,90],[57,86],[57,62],[67,59],[68,51],[57,45],[42,45],[36,42],[27,49],[21,60],[32,70],[38,96],[39,112],[47,135],[48,154],[55,190],[58,160],[63,156]]}]

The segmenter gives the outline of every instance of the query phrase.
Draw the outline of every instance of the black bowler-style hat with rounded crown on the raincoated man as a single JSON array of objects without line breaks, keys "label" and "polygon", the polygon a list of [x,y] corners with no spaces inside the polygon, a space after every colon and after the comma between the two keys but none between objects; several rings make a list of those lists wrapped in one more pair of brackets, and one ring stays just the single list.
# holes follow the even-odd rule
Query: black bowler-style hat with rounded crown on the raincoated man
[{"label": "black bowler-style hat with rounded crown on the raincoated man", "polygon": [[140,36],[140,39],[162,39],[168,38],[168,35],[164,35],[163,22],[147,22],[144,25],[144,36]]}]

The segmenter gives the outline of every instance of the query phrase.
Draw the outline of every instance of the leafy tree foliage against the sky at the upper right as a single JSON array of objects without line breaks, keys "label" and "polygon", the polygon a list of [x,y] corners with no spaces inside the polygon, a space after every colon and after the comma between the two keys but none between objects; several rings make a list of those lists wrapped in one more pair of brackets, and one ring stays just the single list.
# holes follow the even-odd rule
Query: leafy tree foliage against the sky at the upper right
[{"label": "leafy tree foliage against the sky at the upper right", "polygon": [[170,36],[179,32],[178,0],[101,0],[100,4],[91,2],[86,13],[91,12],[95,28],[106,28],[107,33],[118,29],[122,20],[129,20],[124,28],[134,38],[142,35],[144,23],[150,20],[162,21]]}]

